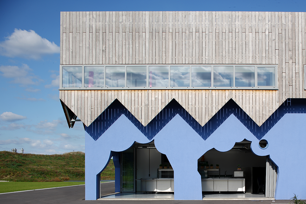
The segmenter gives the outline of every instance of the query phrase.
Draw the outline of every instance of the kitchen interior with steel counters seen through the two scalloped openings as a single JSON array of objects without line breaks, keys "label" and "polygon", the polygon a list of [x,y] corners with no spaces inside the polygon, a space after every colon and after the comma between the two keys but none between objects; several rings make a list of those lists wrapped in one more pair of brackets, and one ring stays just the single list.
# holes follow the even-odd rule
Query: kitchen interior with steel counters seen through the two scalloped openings
[{"label": "kitchen interior with steel counters seen through the two scalloped openings", "polygon": [[[264,194],[266,156],[253,154],[250,145],[251,142],[244,140],[227,152],[211,149],[198,159],[203,193]],[[154,141],[135,143],[131,150],[134,154],[135,179],[126,181],[122,178],[121,182],[134,184],[122,192],[173,193],[174,171],[166,155],[155,148]],[[124,177],[124,173],[122,175]]]}]

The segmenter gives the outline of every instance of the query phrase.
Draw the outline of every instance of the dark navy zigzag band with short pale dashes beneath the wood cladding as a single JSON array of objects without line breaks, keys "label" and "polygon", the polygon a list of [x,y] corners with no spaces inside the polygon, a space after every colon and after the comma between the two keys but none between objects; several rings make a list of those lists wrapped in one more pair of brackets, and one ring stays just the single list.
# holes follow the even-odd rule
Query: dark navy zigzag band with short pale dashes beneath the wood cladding
[{"label": "dark navy zigzag band with short pale dashes beneath the wood cladding", "polygon": [[258,126],[232,99],[229,100],[204,126],[201,126],[175,99],[173,99],[146,126],[142,125],[118,100],[115,100],[99,117],[85,127],[95,140],[124,114],[148,139],[154,136],[179,114],[204,140],[206,140],[231,114],[261,139],[286,113],[306,113],[306,99],[287,99],[261,126]]}]

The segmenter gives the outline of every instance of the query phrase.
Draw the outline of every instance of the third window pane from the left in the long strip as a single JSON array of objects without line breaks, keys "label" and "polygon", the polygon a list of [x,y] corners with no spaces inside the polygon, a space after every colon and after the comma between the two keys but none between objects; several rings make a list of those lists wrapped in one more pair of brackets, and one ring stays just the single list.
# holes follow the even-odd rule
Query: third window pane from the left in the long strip
[{"label": "third window pane from the left in the long strip", "polygon": [[125,67],[106,67],[106,87],[125,87]]}]

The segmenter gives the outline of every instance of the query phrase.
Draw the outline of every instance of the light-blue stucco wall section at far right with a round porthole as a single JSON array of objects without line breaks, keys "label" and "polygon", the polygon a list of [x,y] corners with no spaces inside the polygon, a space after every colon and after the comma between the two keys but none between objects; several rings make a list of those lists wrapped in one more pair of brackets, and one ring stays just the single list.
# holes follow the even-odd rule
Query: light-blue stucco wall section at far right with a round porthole
[{"label": "light-blue stucco wall section at far right with a round porthole", "polygon": [[306,199],[306,114],[288,113],[262,139],[269,146],[261,149],[251,143],[254,154],[265,156],[278,166],[275,199],[289,199],[295,193]]}]

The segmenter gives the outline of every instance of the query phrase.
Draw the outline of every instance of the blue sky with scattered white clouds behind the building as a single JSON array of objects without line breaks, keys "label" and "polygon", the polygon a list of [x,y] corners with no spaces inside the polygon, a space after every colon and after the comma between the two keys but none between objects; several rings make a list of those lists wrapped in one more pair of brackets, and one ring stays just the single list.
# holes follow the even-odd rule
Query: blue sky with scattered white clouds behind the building
[{"label": "blue sky with scattered white clouds behind the building", "polygon": [[182,10],[305,12],[306,1],[1,1],[0,151],[85,151],[83,124],[69,129],[59,101],[60,11]]}]

